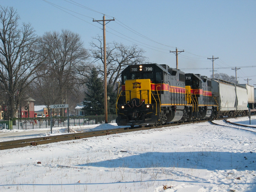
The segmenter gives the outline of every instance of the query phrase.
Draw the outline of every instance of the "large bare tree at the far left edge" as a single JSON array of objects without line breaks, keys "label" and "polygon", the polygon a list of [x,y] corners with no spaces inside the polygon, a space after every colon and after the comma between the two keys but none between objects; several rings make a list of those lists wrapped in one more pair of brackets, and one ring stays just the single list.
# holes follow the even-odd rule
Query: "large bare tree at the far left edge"
[{"label": "large bare tree at the far left edge", "polygon": [[11,118],[26,99],[26,91],[40,66],[34,29],[25,23],[18,28],[19,19],[12,7],[0,6],[0,89],[6,95],[7,116]]}]

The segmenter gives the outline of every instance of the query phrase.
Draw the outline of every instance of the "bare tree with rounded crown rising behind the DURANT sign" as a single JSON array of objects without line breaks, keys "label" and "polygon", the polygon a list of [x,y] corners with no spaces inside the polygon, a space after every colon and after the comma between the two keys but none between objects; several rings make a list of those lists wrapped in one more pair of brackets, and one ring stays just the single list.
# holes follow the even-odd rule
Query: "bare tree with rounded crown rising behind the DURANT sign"
[{"label": "bare tree with rounded crown rising behind the DURANT sign", "polygon": [[[68,103],[68,95],[77,92],[78,85],[84,83],[84,76],[88,71],[86,61],[89,54],[83,47],[81,37],[69,30],[62,30],[61,33],[46,32],[40,39],[40,47],[41,54],[47,59],[43,71],[39,73],[54,77],[56,88],[59,89],[58,94],[61,96],[58,102]],[[53,85],[49,88],[51,87]],[[49,102],[54,104],[55,101]],[[61,115],[63,116],[62,110]]]}]

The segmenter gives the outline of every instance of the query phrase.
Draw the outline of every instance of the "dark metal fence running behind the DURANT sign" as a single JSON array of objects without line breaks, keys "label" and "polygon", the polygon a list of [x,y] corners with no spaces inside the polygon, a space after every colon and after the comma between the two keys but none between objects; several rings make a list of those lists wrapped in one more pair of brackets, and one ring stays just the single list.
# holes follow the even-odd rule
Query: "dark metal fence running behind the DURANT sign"
[{"label": "dark metal fence running behind the DURANT sign", "polygon": [[[69,126],[92,125],[105,123],[105,115],[96,116],[69,116]],[[116,115],[108,115],[108,123],[116,123]],[[40,129],[50,128],[50,117],[17,118],[12,129]],[[68,117],[52,117],[52,126],[68,126]]]}]

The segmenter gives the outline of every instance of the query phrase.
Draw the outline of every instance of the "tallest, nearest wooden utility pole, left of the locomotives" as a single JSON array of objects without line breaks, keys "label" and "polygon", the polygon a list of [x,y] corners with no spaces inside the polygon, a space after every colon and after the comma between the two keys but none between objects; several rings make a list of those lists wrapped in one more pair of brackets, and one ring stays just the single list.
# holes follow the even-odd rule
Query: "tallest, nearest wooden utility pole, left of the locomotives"
[{"label": "tallest, nearest wooden utility pole, left of the locomotives", "polygon": [[[105,15],[103,15],[103,20],[92,20],[92,22],[102,21],[103,26],[103,57],[104,57],[104,111],[105,111],[105,123],[108,123],[108,100],[107,100],[107,59],[106,59],[106,24],[110,21],[114,21],[115,18],[110,20],[105,20]],[[105,21],[108,21],[105,23]],[[101,24],[101,23],[100,23]]]}]

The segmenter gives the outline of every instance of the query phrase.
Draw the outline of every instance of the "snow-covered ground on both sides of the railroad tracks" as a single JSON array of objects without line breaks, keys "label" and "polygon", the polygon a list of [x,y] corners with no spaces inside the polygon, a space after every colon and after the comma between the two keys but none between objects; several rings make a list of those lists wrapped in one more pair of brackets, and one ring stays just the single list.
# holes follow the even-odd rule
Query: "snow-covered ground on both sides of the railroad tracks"
[{"label": "snow-covered ground on both sides of the railroad tracks", "polygon": [[[117,127],[96,126],[79,129]],[[0,141],[28,137],[15,131]],[[25,133],[50,135],[39,131]],[[2,150],[0,191],[256,191],[255,136],[206,122]]]}]

